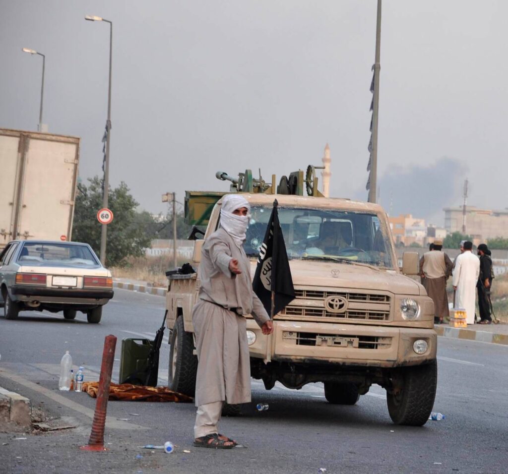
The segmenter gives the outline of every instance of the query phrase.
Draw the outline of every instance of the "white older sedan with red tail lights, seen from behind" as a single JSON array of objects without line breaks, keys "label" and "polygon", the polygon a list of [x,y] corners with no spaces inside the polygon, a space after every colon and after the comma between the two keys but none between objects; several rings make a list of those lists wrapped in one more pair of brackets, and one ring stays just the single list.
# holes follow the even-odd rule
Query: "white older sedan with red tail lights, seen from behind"
[{"label": "white older sedan with red tail lights, seen from behind", "polygon": [[0,254],[0,296],[7,319],[43,310],[74,319],[81,311],[99,323],[113,279],[88,244],[12,241]]}]

